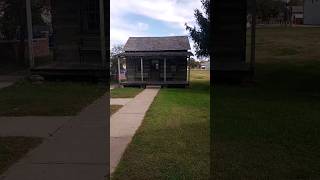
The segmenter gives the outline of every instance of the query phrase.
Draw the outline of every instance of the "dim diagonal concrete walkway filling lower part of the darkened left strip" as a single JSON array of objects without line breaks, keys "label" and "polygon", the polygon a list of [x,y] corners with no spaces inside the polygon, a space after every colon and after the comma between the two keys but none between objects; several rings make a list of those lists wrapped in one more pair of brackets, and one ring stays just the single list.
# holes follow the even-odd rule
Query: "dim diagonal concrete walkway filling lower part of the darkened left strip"
[{"label": "dim diagonal concrete walkway filling lower part of the darkened left strip", "polygon": [[85,108],[0,176],[1,180],[105,180],[107,97]]}]

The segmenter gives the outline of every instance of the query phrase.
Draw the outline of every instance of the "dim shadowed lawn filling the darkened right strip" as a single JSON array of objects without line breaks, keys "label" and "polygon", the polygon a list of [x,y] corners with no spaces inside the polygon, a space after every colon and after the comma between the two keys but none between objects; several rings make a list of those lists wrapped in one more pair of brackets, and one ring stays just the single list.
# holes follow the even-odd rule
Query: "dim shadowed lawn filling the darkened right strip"
[{"label": "dim shadowed lawn filling the darkened right strip", "polygon": [[320,179],[319,42],[320,28],[257,29],[257,84],[214,88],[214,179]]}]

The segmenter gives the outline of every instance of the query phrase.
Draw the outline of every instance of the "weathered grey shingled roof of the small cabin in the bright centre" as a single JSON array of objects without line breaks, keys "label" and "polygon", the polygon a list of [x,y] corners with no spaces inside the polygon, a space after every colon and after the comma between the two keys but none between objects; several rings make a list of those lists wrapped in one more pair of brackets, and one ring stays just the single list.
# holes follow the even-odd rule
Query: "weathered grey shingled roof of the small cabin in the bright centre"
[{"label": "weathered grey shingled roof of the small cabin in the bright centre", "polygon": [[124,51],[188,51],[190,43],[187,36],[130,37]]}]

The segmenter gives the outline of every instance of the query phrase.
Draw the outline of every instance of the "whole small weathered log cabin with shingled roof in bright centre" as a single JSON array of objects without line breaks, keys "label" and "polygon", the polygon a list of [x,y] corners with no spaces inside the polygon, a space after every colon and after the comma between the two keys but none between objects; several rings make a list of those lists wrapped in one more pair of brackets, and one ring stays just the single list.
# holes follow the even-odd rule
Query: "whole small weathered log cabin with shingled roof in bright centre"
[{"label": "whole small weathered log cabin with shingled roof in bright centre", "polygon": [[124,86],[188,86],[190,43],[187,36],[130,37],[119,55],[126,61]]}]

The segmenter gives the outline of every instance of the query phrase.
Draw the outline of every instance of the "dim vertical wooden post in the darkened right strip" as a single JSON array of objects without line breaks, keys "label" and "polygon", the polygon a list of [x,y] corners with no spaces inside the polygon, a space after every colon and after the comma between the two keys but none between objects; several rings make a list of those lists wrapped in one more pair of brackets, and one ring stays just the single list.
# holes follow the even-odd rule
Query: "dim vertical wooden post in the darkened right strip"
[{"label": "dim vertical wooden post in the darkened right strip", "polygon": [[256,59],[256,0],[253,0],[253,9],[252,9],[252,22],[251,22],[251,61],[250,68],[251,71],[255,70],[255,59]]}]

